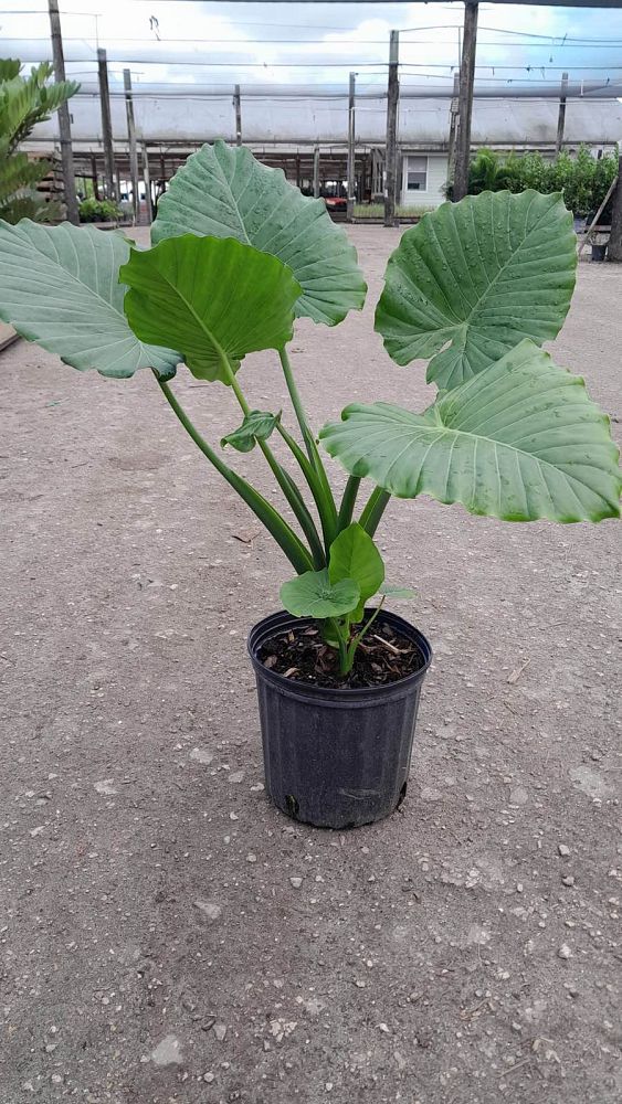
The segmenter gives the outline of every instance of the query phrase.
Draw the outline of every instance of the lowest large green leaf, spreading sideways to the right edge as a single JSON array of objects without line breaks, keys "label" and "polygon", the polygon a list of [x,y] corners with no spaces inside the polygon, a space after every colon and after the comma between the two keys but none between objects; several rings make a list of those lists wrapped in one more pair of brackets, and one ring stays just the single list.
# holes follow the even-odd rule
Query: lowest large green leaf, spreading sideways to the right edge
[{"label": "lowest large green leaf, spreading sideways to the right edge", "polygon": [[424,414],[348,406],[319,436],[355,476],[398,498],[430,495],[506,521],[618,517],[609,421],[583,381],[531,341],[440,395]]}]

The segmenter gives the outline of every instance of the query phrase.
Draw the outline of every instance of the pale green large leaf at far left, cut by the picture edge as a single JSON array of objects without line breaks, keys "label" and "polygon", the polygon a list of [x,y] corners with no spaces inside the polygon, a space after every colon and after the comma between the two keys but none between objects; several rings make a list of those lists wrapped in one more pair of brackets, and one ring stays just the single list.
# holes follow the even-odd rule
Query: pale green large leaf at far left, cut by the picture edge
[{"label": "pale green large leaf at far left, cut by the picture edge", "polygon": [[123,311],[118,270],[128,256],[120,234],[94,226],[0,222],[0,318],[81,371],[154,368],[168,378],[178,353],[138,341]]}]

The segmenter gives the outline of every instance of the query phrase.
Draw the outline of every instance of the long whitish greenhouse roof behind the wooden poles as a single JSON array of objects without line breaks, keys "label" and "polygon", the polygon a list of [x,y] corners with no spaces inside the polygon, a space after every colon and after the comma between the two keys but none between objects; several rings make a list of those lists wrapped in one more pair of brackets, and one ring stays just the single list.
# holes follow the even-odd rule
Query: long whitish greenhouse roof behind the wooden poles
[{"label": "long whitish greenhouse roof behind the wooden poles", "polygon": [[[170,86],[168,86],[170,89]],[[150,145],[196,145],[224,138],[235,141],[235,116],[230,95],[192,96],[188,86],[173,95],[135,89],[137,136]],[[409,98],[400,100],[399,141],[402,146],[440,148],[447,141],[450,99]],[[98,147],[102,140],[99,99],[83,93],[71,100],[72,136],[82,148]],[[112,98],[113,134],[127,140],[125,102]],[[554,98],[476,98],[473,105],[472,141],[475,145],[547,146],[556,139],[558,102]],[[387,105],[384,98],[361,97],[356,107],[357,144],[384,144]],[[242,95],[242,136],[251,145],[306,146],[314,142],[342,144],[347,138],[346,97],[281,96],[268,98]],[[39,125],[33,134],[38,148],[57,138],[56,121]],[[569,99],[566,108],[566,145],[612,145],[622,141],[622,102]]]}]

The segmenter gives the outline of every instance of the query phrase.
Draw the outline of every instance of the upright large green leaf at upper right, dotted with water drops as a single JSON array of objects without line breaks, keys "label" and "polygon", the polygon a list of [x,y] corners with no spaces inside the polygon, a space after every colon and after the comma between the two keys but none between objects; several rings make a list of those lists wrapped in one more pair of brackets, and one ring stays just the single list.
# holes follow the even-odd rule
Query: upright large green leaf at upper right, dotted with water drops
[{"label": "upright large green leaf at upper right, dotted with water drops", "polygon": [[574,287],[576,241],[559,194],[443,203],[389,259],[376,311],[387,352],[398,364],[432,357],[428,382],[451,389],[523,338],[555,338]]}]

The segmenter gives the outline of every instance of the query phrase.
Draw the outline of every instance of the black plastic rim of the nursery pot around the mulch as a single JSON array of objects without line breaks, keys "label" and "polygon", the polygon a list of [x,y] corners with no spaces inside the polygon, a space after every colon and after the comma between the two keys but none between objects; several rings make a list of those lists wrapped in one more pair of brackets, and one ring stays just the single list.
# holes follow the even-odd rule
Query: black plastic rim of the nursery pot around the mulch
[{"label": "black plastic rim of the nursery pot around the mulch", "polygon": [[[372,612],[373,607],[366,608],[366,613]],[[418,629],[410,622],[405,620],[404,617],[400,617],[399,614],[392,613],[390,609],[383,609],[379,614],[379,620],[383,619],[389,622],[393,627],[401,631],[404,636],[409,637],[421,654],[423,664],[418,667],[415,671],[411,671],[410,675],[405,675],[401,679],[396,679],[394,682],[386,682],[383,686],[376,687],[346,687],[339,690],[335,687],[320,687],[315,686],[313,682],[299,682],[297,679],[286,679],[284,675],[278,675],[277,671],[271,670],[268,667],[264,667],[262,661],[257,656],[260,646],[264,640],[270,639],[271,636],[276,636],[281,630],[285,630],[289,623],[302,624],[302,625],[313,625],[316,623],[315,617],[294,617],[293,614],[288,614],[285,609],[281,609],[275,614],[268,614],[267,617],[263,617],[251,628],[247,639],[246,648],[251,662],[255,672],[260,675],[267,682],[272,682],[277,689],[284,693],[288,693],[292,697],[312,697],[312,698],[324,698],[328,701],[365,701],[373,700],[378,698],[388,697],[390,694],[408,693],[418,682],[420,682],[430,664],[432,662],[432,645],[429,639],[423,635],[423,633]]]}]

